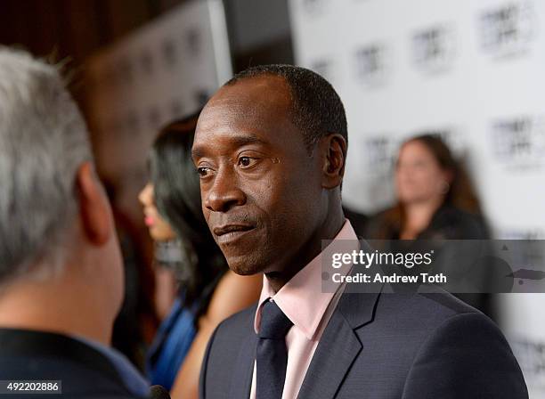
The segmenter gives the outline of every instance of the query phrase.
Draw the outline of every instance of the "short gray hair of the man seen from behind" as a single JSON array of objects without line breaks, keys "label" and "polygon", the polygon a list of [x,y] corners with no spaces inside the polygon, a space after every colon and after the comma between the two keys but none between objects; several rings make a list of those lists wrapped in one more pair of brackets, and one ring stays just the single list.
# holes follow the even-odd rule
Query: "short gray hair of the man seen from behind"
[{"label": "short gray hair of the man seen from behind", "polygon": [[0,46],[0,283],[59,256],[87,128],[59,68]]}]

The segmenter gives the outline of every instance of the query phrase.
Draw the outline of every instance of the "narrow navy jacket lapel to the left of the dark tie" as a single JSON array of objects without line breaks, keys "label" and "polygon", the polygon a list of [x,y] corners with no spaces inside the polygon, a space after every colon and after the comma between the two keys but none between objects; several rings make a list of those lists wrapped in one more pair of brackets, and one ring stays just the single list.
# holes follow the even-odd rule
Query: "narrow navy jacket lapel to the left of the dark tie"
[{"label": "narrow navy jacket lapel to the left of the dark tie", "polygon": [[239,356],[234,364],[230,395],[232,398],[248,398],[256,361],[257,336],[252,328],[248,338],[240,345]]}]

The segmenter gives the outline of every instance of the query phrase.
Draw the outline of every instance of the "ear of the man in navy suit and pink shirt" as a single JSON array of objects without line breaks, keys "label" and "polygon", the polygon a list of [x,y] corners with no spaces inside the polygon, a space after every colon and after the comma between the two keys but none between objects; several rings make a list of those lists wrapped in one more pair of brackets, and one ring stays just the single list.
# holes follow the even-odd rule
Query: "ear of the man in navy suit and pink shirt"
[{"label": "ear of the man in navy suit and pink shirt", "polygon": [[328,134],[321,138],[321,153],[323,154],[322,182],[324,189],[334,189],[340,186],[345,175],[346,140],[341,134]]}]

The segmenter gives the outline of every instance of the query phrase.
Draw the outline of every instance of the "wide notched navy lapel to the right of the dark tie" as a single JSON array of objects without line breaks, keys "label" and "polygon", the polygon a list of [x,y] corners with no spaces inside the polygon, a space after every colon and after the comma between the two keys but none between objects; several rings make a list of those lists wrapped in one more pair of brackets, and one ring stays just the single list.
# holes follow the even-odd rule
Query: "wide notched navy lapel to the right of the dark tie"
[{"label": "wide notched navy lapel to the right of the dark tie", "polygon": [[297,398],[335,397],[346,373],[363,348],[354,330],[372,321],[378,295],[342,295],[323,331]]}]

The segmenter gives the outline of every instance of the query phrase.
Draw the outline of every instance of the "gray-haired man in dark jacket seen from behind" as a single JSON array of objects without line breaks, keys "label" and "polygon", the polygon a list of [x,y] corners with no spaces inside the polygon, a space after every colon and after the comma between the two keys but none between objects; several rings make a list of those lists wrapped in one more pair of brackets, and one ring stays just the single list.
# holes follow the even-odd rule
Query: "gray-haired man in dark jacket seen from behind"
[{"label": "gray-haired man in dark jacket seen from behind", "polygon": [[55,67],[5,47],[0,182],[0,394],[146,395],[107,347],[123,271],[85,122]]}]

